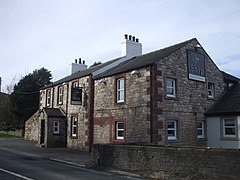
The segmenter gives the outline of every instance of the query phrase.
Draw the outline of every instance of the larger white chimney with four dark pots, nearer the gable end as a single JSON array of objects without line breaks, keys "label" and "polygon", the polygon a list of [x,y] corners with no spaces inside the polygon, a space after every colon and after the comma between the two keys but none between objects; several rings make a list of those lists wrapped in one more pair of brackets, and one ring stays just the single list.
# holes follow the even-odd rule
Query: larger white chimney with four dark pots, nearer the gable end
[{"label": "larger white chimney with four dark pots, nearer the gable end", "polygon": [[124,36],[124,42],[121,43],[121,56],[126,56],[127,59],[130,59],[132,57],[142,55],[142,44],[139,43],[139,39],[127,34],[125,34]]}]

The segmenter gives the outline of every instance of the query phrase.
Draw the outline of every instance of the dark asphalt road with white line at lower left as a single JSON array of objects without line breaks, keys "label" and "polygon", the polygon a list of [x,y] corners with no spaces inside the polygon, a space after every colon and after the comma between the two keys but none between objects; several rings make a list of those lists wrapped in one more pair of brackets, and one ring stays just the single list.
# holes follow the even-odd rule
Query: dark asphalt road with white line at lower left
[{"label": "dark asphalt road with white line at lower left", "polygon": [[98,172],[64,163],[47,160],[41,156],[0,147],[1,180],[120,180],[135,179]]}]

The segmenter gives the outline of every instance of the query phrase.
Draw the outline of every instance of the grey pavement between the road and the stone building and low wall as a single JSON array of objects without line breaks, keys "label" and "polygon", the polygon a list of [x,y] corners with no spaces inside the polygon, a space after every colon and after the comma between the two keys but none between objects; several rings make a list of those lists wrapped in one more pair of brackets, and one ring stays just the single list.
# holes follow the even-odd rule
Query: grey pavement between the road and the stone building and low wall
[{"label": "grey pavement between the road and the stone building and low wall", "polygon": [[[24,140],[17,137],[0,137],[0,149],[17,154],[24,154],[31,157],[41,157],[50,161],[65,163],[82,168],[91,168],[91,153],[82,152],[69,148],[41,148],[36,146],[36,142]],[[108,172],[110,174],[119,174],[130,179],[142,179],[138,174],[116,169],[101,169],[97,171]],[[93,170],[94,171],[94,170]]]}]

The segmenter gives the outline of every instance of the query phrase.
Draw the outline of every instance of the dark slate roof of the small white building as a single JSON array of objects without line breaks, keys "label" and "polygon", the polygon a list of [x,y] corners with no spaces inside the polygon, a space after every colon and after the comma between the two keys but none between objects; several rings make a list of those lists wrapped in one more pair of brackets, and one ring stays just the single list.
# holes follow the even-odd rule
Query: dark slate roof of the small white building
[{"label": "dark slate roof of the small white building", "polygon": [[231,86],[205,114],[206,116],[240,115],[240,83]]}]

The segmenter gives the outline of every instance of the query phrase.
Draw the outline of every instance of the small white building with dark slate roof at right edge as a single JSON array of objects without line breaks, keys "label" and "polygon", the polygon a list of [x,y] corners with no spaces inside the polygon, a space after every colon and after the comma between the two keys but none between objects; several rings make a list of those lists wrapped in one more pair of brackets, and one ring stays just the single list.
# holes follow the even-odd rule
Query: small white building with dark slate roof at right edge
[{"label": "small white building with dark slate roof at right edge", "polygon": [[206,116],[209,147],[240,149],[240,83],[230,83]]}]

